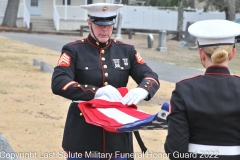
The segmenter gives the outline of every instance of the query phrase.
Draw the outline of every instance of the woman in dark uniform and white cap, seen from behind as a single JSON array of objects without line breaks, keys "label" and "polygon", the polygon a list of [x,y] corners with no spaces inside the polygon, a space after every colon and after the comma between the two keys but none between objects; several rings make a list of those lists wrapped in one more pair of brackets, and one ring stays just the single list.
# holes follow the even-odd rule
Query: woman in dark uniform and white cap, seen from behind
[{"label": "woman in dark uniform and white cap, seen from behind", "polygon": [[167,117],[170,159],[240,159],[240,77],[230,74],[240,25],[227,20],[192,24],[204,75],[176,83]]}]

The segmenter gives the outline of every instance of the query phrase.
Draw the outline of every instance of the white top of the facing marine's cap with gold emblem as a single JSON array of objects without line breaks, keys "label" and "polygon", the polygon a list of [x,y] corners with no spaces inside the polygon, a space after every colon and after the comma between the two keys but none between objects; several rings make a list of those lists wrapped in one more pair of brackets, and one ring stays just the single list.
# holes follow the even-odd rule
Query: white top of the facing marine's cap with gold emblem
[{"label": "white top of the facing marine's cap with gold emblem", "polygon": [[93,17],[112,17],[117,15],[117,10],[123,7],[123,4],[111,3],[95,3],[89,5],[81,5],[82,8],[88,10],[88,14]]}]

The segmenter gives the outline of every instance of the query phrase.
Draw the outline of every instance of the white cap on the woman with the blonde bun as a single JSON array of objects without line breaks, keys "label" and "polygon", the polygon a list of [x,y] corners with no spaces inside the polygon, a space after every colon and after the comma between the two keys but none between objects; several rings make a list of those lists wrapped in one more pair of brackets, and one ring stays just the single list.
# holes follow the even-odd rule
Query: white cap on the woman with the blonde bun
[{"label": "white cap on the woman with the blonde bun", "polygon": [[228,20],[204,20],[193,23],[188,32],[197,37],[198,44],[233,44],[240,35],[240,24]]}]

